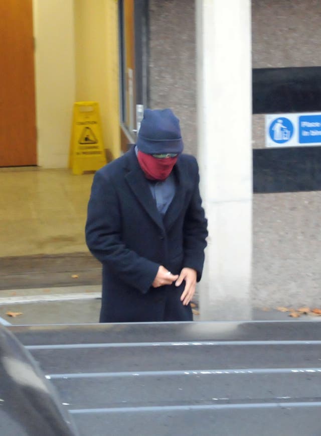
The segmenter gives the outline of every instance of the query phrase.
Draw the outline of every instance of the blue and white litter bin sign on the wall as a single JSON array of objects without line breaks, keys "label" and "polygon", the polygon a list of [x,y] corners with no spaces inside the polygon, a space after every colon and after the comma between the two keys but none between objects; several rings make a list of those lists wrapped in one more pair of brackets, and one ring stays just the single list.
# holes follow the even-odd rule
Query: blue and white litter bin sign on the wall
[{"label": "blue and white litter bin sign on the wall", "polygon": [[266,147],[321,145],[321,114],[265,116]]}]

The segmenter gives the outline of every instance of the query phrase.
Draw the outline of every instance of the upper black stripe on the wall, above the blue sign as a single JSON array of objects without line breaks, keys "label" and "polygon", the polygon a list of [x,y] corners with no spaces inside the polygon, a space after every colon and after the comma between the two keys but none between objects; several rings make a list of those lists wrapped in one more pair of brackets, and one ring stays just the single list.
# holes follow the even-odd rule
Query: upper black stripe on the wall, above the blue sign
[{"label": "upper black stripe on the wall, above the blue sign", "polygon": [[321,67],[254,68],[253,114],[321,111]]}]

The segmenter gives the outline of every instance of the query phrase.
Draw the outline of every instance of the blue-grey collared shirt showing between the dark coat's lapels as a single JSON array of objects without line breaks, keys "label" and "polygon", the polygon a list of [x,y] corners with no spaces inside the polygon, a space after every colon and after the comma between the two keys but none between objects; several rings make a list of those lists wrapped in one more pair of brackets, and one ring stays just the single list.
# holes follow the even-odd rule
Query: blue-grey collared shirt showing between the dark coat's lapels
[{"label": "blue-grey collared shirt showing between the dark coat's lapels", "polygon": [[[137,156],[138,150],[136,146],[135,153]],[[148,182],[151,195],[156,202],[158,212],[164,216],[175,195],[175,177],[173,171],[163,181],[146,180]]]}]

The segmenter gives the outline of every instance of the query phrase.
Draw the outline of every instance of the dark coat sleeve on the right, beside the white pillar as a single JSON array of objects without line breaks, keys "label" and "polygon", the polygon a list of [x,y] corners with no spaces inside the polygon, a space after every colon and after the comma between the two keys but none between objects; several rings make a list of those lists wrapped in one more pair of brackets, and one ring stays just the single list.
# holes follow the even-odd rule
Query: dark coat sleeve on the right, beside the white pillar
[{"label": "dark coat sleeve on the right, beside the white pillar", "polygon": [[197,281],[202,277],[204,265],[204,250],[207,246],[206,238],[207,219],[202,207],[202,199],[199,190],[199,169],[193,158],[194,191],[184,219],[184,267],[193,268],[197,271]]}]

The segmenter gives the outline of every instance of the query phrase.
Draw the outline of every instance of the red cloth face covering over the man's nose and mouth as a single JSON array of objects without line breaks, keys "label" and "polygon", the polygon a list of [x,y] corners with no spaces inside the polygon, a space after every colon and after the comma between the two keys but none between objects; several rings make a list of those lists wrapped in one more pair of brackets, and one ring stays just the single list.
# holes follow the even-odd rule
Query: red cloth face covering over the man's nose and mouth
[{"label": "red cloth face covering over the man's nose and mouth", "polygon": [[137,159],[147,179],[165,180],[171,174],[177,156],[157,159],[151,154],[142,153],[138,150]]}]

